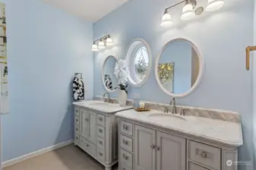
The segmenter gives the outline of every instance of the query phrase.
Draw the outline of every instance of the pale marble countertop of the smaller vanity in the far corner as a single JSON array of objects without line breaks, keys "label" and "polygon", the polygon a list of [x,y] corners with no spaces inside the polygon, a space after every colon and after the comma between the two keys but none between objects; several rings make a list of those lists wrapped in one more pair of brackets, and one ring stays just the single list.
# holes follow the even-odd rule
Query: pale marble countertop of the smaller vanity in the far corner
[{"label": "pale marble countertop of the smaller vanity in the far corner", "polygon": [[83,100],[73,103],[77,107],[84,107],[89,110],[94,110],[100,113],[117,113],[122,110],[129,110],[133,107],[125,106],[120,107],[119,104],[109,104],[100,100]]}]

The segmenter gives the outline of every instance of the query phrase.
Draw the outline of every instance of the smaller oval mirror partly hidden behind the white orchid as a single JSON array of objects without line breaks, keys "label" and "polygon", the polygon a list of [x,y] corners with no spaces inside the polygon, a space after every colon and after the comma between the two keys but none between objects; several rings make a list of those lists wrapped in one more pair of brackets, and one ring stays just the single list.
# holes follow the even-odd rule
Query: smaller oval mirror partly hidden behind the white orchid
[{"label": "smaller oval mirror partly hidden behind the white orchid", "polygon": [[118,85],[119,82],[114,74],[116,62],[117,58],[110,55],[109,57],[106,57],[102,67],[101,76],[103,80],[103,85],[106,88],[106,91],[109,92],[114,92],[116,90],[115,86]]}]

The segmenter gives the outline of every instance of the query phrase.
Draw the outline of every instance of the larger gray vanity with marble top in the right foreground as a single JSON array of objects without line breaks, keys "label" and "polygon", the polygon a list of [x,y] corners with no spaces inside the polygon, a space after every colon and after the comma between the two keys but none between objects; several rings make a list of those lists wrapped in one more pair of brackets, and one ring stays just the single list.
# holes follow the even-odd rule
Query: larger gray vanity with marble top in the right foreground
[{"label": "larger gray vanity with marble top in the right foreground", "polygon": [[239,122],[125,110],[119,117],[119,170],[236,170]]}]

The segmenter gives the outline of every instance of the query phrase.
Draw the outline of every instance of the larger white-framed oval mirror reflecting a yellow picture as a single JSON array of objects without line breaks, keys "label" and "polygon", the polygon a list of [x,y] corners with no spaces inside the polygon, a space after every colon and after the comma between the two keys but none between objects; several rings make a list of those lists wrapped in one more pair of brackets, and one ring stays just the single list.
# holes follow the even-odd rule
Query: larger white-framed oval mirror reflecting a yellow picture
[{"label": "larger white-framed oval mirror reflecting a yellow picture", "polygon": [[198,48],[187,39],[174,39],[156,58],[156,80],[166,94],[185,97],[198,87],[203,68]]}]

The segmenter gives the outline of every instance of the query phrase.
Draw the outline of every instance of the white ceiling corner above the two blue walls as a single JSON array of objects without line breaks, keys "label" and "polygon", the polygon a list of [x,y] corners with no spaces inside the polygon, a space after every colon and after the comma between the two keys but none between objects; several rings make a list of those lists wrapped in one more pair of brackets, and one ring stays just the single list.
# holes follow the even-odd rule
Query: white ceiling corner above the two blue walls
[{"label": "white ceiling corner above the two blue walls", "polygon": [[43,0],[84,20],[97,21],[128,0]]}]

